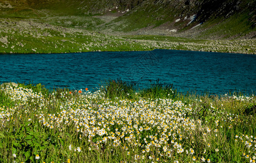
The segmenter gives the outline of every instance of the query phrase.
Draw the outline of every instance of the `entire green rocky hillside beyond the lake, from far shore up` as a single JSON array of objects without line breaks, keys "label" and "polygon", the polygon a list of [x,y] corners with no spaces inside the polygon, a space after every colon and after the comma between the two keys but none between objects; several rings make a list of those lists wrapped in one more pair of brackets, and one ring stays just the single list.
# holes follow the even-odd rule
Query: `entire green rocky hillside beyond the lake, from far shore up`
[{"label": "entire green rocky hillside beyond the lake, from far shore up", "polygon": [[0,53],[165,48],[255,54],[254,4],[255,0],[0,0]]}]

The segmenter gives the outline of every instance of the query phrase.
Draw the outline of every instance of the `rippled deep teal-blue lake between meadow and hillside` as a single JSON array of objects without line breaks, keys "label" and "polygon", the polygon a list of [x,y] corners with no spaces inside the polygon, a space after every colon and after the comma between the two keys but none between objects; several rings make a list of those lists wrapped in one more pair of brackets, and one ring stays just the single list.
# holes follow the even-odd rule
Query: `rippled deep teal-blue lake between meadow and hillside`
[{"label": "rippled deep teal-blue lake between meadow and hillside", "polygon": [[147,87],[173,84],[181,92],[256,91],[256,55],[160,50],[65,54],[0,54],[0,82],[93,91],[121,78]]}]

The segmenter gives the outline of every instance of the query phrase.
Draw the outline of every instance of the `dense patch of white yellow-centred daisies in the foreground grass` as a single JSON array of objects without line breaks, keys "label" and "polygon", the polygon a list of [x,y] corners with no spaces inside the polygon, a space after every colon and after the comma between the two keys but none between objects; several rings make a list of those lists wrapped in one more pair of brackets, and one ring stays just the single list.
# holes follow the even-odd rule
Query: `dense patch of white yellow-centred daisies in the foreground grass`
[{"label": "dense patch of white yellow-centred daisies in the foreground grass", "polygon": [[[240,121],[238,115],[227,114],[223,105],[215,108],[212,103],[209,108],[212,115],[216,115],[212,123],[195,119],[191,115],[203,103],[201,99],[195,104],[160,98],[135,101],[116,97],[111,101],[100,91],[63,91],[58,95],[53,92],[44,97],[40,92],[22,87],[7,86],[2,90],[16,102],[13,108],[0,108],[2,127],[6,127],[9,121],[15,123],[16,120],[12,120],[14,114],[17,117],[34,114],[28,119],[32,125],[39,122],[43,128],[59,132],[69,128],[70,133],[76,133],[78,139],[89,144],[88,147],[69,145],[69,150],[117,149],[133,161],[217,161],[220,152],[227,148],[220,140],[224,139],[223,124],[227,123],[231,129]],[[254,100],[254,97],[227,98]],[[47,112],[52,107],[58,111]],[[241,151],[241,154],[247,161],[255,162],[255,135],[237,136],[235,142],[240,141],[246,152]],[[36,155],[36,159],[39,158]]]}]

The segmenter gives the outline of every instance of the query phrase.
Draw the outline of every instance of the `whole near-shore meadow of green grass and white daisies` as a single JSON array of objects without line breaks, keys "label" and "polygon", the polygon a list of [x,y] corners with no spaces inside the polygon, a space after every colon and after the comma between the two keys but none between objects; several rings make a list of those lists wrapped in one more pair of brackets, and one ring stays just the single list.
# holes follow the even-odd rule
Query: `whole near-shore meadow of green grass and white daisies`
[{"label": "whole near-shore meadow of green grass and white daisies", "polygon": [[256,97],[0,87],[0,162],[255,162]]}]

